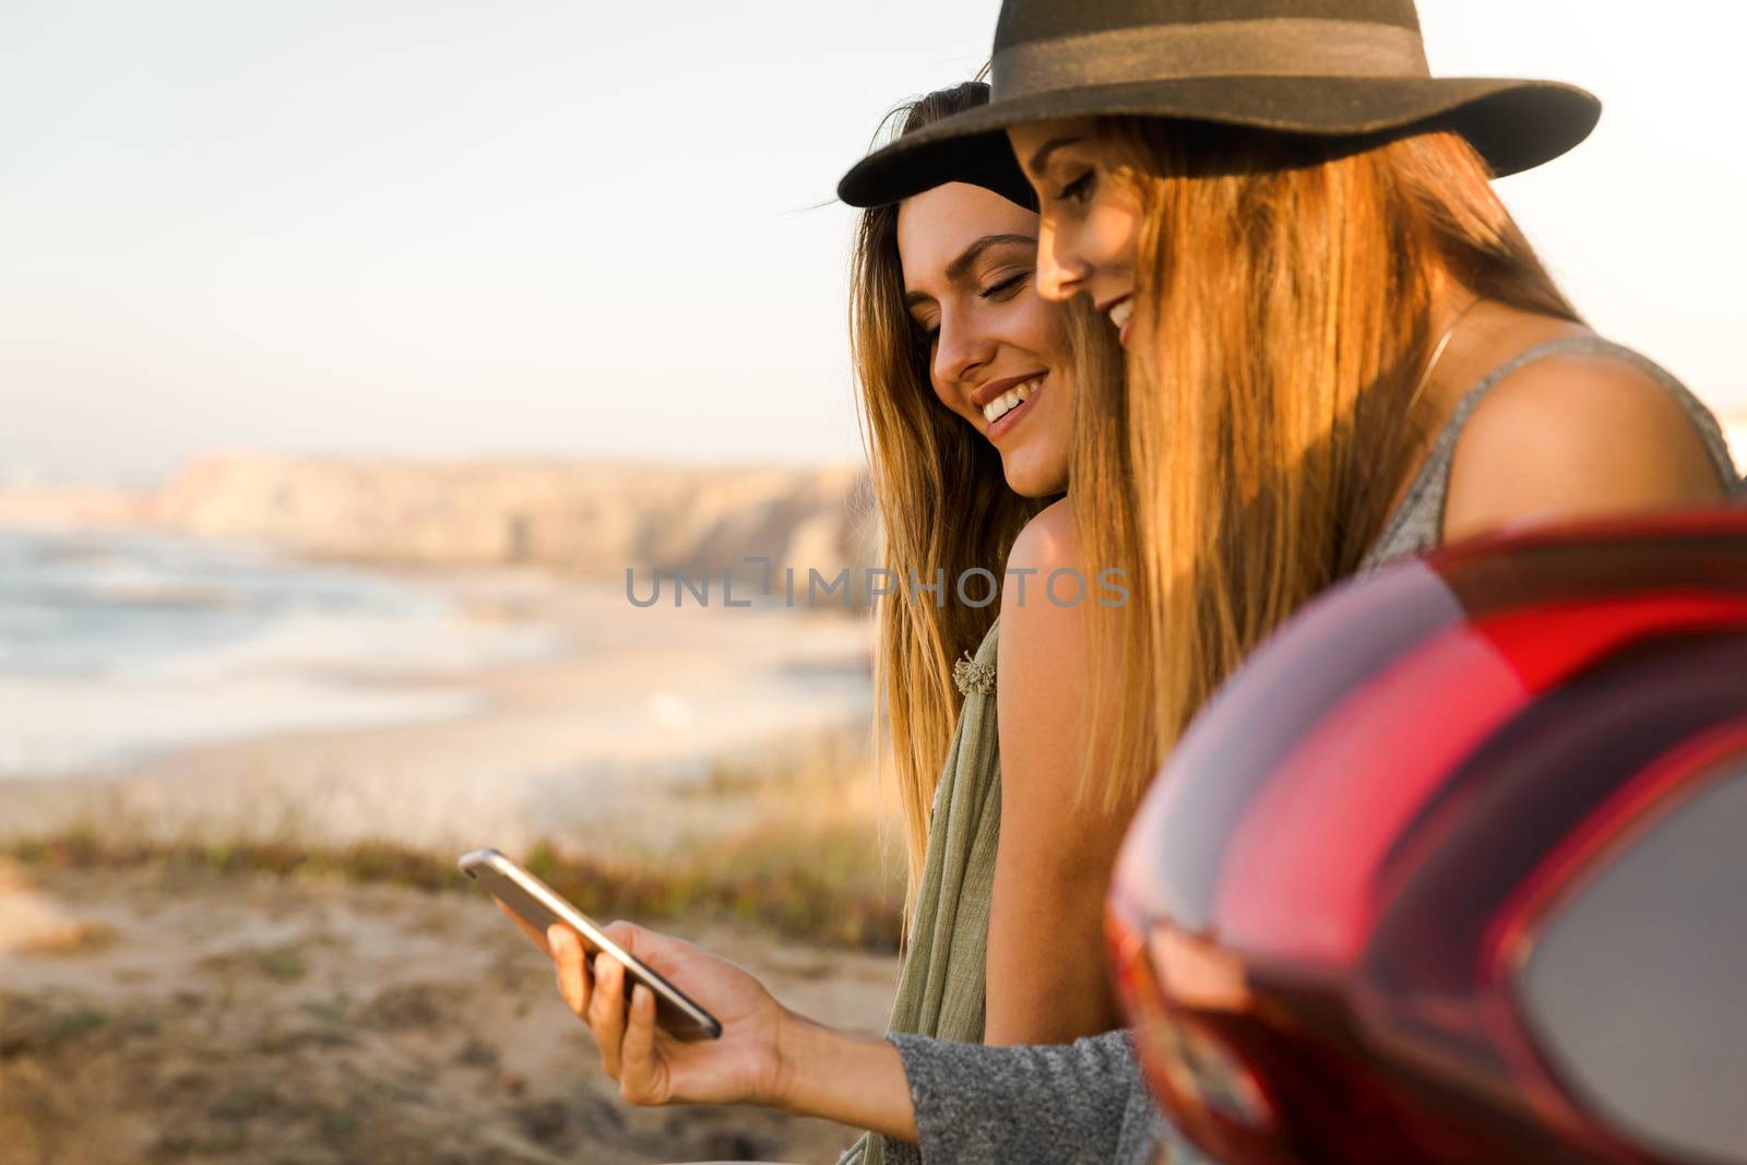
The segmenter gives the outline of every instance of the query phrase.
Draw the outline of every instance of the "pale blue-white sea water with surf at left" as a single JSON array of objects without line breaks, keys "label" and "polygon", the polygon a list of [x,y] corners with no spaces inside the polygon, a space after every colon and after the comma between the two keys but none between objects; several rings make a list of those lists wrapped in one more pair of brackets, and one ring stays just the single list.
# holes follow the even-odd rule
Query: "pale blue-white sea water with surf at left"
[{"label": "pale blue-white sea water with surf at left", "polygon": [[370,571],[162,534],[0,531],[0,777],[459,716],[479,704],[468,669],[550,646]]}]

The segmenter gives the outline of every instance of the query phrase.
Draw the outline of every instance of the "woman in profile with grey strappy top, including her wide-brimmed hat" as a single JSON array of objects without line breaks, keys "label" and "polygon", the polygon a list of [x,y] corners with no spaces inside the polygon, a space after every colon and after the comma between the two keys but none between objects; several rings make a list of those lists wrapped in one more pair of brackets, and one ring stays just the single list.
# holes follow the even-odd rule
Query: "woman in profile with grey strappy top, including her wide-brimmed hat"
[{"label": "woman in profile with grey strappy top, including her wide-brimmed hat", "polygon": [[[1008,0],[994,100],[858,164],[849,203],[1005,131],[1039,288],[1085,297],[1130,388],[1083,398],[1087,554],[1143,601],[1094,620],[1113,795],[1329,583],[1501,526],[1737,487],[1710,412],[1590,332],[1490,187],[1593,128],[1586,93],[1434,79],[1412,0]],[[1146,601],[1153,596],[1153,601]],[[1104,679],[1099,683],[1099,679]],[[1136,693],[1148,693],[1136,699]]]}]

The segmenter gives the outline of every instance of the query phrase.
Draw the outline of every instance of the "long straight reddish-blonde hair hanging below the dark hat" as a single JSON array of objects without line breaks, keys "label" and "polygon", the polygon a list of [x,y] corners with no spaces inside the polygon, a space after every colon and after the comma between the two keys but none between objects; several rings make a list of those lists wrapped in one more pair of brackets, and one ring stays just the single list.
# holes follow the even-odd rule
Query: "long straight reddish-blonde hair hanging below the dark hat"
[{"label": "long straight reddish-blonde hair hanging below the dark hat", "polygon": [[[1434,417],[1434,272],[1576,320],[1466,140],[1370,148],[1158,119],[1101,131],[1141,206],[1129,391],[1081,389],[1088,561],[1134,601],[1092,624],[1083,772],[1137,796],[1212,690],[1350,575]],[[1144,335],[1144,330],[1143,330]],[[1111,520],[1118,515],[1120,520]]]}]

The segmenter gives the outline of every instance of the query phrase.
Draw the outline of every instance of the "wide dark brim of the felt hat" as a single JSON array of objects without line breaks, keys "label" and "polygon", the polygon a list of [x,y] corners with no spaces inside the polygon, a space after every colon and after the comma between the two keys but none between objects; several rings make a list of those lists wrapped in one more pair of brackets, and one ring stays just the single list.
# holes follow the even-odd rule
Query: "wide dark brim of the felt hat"
[{"label": "wide dark brim of the felt hat", "polygon": [[1602,103],[1553,80],[1487,77],[1186,77],[1055,89],[954,114],[868,154],[837,183],[851,206],[880,206],[963,173],[1010,126],[1062,117],[1169,117],[1326,138],[1454,129],[1499,176],[1548,162],[1590,136]]}]

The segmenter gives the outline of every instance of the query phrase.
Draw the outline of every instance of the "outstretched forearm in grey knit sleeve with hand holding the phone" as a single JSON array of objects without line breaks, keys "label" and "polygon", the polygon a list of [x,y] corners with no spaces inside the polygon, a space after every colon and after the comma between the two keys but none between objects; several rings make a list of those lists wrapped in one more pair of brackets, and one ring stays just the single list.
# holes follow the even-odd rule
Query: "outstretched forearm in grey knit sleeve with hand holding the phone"
[{"label": "outstretched forearm in grey knit sleeve with hand holding the phone", "polygon": [[646,989],[625,1008],[618,962],[603,957],[590,973],[571,931],[531,933],[631,1104],[763,1104],[919,1142],[924,1160],[961,1165],[1151,1160],[1160,1121],[1127,1032],[1057,1048],[851,1036],[788,1011],[751,975],[690,943],[625,922],[608,933],[722,1020],[722,1039],[673,1039],[655,1027]]}]

